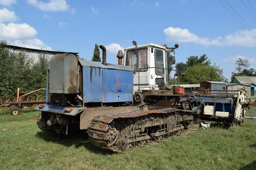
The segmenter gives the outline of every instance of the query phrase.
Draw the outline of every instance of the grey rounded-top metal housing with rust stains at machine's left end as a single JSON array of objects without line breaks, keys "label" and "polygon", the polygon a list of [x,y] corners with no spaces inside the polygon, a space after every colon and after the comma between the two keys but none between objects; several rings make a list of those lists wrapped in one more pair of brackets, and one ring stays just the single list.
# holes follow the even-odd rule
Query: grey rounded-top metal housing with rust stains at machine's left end
[{"label": "grey rounded-top metal housing with rust stains at machine's left end", "polygon": [[49,65],[49,93],[79,93],[78,59],[75,54],[53,56]]}]

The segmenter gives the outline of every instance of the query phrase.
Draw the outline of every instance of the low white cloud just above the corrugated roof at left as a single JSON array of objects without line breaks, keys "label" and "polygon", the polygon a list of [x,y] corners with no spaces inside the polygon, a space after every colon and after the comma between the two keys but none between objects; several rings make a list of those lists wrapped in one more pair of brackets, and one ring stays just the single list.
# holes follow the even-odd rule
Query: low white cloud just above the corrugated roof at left
[{"label": "low white cloud just above the corrugated roof at left", "polygon": [[51,47],[47,46],[47,44],[45,44],[44,42],[42,42],[37,38],[29,39],[29,40],[15,40],[11,44],[20,46],[20,47],[33,48],[33,49],[42,48],[43,50],[53,51]]}]

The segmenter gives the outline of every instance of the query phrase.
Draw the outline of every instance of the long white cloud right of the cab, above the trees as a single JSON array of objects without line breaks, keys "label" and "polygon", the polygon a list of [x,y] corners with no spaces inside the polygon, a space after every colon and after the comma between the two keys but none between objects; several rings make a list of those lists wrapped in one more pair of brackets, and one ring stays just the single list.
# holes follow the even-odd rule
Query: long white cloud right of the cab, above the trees
[{"label": "long white cloud right of the cab, above the trees", "polygon": [[[254,30],[256,31],[256,29]],[[188,29],[168,27],[164,29],[164,34],[169,41],[175,42],[195,42],[204,46],[220,45],[220,46],[248,46],[256,47],[256,37],[250,31],[236,31],[234,34],[228,34],[225,37],[216,37],[213,39],[207,37],[198,37],[189,32]]]}]

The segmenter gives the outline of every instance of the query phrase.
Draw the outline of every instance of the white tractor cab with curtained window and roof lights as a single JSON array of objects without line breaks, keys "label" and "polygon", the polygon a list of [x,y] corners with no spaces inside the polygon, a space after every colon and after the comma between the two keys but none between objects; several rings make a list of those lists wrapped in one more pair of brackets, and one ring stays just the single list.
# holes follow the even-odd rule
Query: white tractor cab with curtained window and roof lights
[{"label": "white tractor cab with curtained window and roof lights", "polygon": [[[124,49],[123,65],[131,66],[134,70],[134,94],[143,90],[159,90],[169,85],[169,52],[175,48],[166,48],[164,45],[150,44],[137,45]],[[175,55],[171,59],[175,64]]]}]

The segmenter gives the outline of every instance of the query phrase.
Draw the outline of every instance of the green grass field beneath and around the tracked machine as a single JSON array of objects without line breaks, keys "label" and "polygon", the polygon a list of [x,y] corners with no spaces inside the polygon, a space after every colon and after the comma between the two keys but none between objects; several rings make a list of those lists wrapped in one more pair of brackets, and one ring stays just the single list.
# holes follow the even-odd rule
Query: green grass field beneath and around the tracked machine
[{"label": "green grass field beneath and around the tracked machine", "polygon": [[[45,134],[38,112],[0,116],[0,170],[256,170],[256,122],[212,127],[125,153],[93,147],[84,134]],[[249,114],[256,115],[256,109]]]}]

